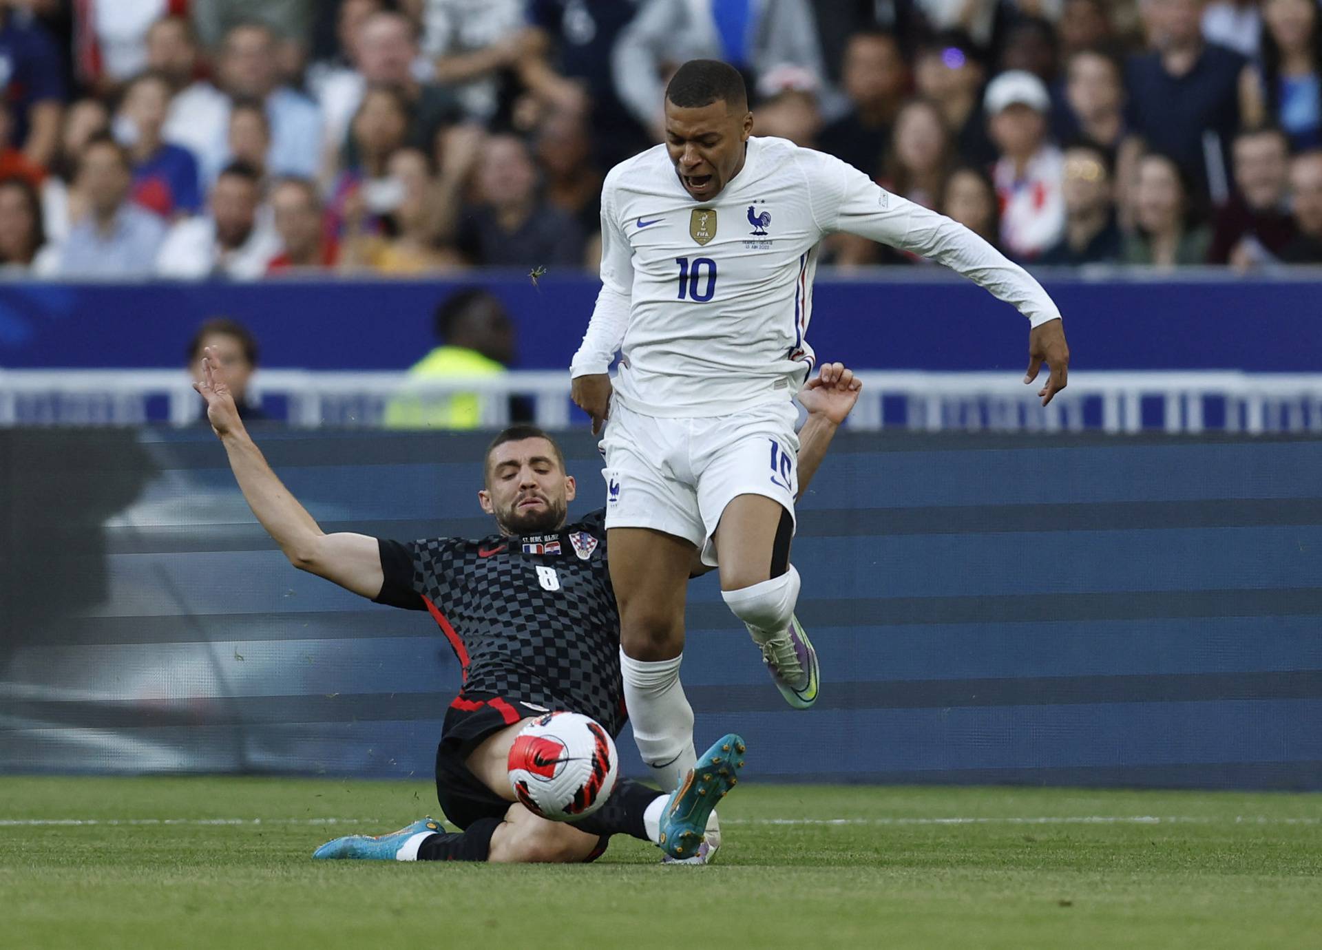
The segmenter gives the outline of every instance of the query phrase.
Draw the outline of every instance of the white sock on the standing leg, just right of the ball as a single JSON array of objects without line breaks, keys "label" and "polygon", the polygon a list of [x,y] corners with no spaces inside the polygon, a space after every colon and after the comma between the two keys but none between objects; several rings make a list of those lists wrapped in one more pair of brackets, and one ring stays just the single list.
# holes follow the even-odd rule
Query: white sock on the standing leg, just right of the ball
[{"label": "white sock on the standing leg, just right of the ball", "polygon": [[633,659],[620,650],[633,741],[662,791],[674,791],[698,761],[693,748],[693,707],[680,684],[682,659],[682,653],[674,659]]}]

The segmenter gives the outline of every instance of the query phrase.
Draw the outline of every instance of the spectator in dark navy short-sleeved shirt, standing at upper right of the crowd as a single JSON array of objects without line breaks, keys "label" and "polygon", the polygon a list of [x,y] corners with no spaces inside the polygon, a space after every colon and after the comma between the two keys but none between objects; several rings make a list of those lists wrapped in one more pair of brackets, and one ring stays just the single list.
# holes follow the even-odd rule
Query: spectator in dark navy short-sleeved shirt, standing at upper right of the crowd
[{"label": "spectator in dark navy short-sleeved shirt, standing at upper right of the crowd", "polygon": [[1203,0],[1144,0],[1150,52],[1130,57],[1128,122],[1169,155],[1199,201],[1228,197],[1228,149],[1239,128],[1244,57],[1203,40]]}]

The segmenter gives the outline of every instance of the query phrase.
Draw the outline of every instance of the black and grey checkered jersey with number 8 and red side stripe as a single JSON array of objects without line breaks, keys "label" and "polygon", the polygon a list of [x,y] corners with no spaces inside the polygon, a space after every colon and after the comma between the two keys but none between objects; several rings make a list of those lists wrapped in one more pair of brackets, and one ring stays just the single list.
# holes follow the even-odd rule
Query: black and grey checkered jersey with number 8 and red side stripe
[{"label": "black and grey checkered jersey with number 8 and red side stripe", "polygon": [[463,667],[460,695],[521,703],[521,716],[582,712],[617,735],[620,614],[604,523],[598,510],[546,535],[381,540],[377,603],[431,612]]}]

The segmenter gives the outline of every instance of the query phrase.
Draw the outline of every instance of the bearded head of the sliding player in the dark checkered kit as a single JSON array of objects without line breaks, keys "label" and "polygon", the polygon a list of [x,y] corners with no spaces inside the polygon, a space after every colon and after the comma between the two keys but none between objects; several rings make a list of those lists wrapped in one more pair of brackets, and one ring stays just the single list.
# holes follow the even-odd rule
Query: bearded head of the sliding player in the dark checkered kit
[{"label": "bearded head of the sliding player in the dark checkered kit", "polygon": [[574,501],[574,477],[546,439],[501,443],[486,457],[483,511],[496,515],[504,534],[547,534],[564,523]]}]

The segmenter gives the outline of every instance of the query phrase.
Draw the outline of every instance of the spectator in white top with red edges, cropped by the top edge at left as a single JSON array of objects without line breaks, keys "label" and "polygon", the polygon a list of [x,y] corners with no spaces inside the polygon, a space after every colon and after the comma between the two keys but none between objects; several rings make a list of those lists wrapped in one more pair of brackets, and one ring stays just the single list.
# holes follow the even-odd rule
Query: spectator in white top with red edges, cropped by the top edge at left
[{"label": "spectator in white top with red edges, cropped by the top edge at left", "polygon": [[164,16],[184,16],[188,0],[79,0],[74,55],[82,83],[106,94],[147,69],[147,34]]}]

